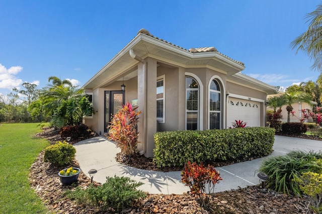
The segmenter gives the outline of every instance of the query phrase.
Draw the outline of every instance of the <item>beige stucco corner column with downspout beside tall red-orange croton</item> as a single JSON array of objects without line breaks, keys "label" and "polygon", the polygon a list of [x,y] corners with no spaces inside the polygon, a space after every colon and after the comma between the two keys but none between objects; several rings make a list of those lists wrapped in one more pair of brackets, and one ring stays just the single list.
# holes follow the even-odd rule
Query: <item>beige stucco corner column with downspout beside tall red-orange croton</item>
[{"label": "beige stucco corner column with downspout beside tall red-orange croton", "polygon": [[145,63],[138,64],[137,72],[138,110],[142,112],[138,124],[140,132],[138,149],[146,157],[153,157],[156,133],[156,60],[147,58]]}]

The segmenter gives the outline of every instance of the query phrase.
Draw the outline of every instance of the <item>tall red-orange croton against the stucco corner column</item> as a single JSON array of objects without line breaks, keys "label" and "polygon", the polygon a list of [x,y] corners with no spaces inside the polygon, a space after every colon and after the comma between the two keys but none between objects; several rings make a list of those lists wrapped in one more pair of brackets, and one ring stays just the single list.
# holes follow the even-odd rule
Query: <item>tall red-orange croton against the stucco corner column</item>
[{"label": "tall red-orange croton against the stucco corner column", "polygon": [[136,112],[138,107],[127,102],[122,108],[113,115],[109,128],[108,138],[116,142],[116,146],[121,149],[121,152],[130,156],[137,152],[137,132],[138,115],[141,111]]}]

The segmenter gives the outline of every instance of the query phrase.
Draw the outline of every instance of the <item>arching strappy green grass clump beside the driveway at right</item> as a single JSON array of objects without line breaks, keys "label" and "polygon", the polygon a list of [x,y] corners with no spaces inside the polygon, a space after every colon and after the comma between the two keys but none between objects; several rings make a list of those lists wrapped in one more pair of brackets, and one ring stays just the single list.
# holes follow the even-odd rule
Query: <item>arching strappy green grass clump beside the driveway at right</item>
[{"label": "arching strappy green grass clump beside the driveway at right", "polygon": [[272,156],[262,162],[259,171],[269,176],[266,181],[268,188],[287,194],[301,195],[296,179],[304,172],[322,170],[321,160],[314,157],[316,154],[318,153],[296,151],[284,156]]}]

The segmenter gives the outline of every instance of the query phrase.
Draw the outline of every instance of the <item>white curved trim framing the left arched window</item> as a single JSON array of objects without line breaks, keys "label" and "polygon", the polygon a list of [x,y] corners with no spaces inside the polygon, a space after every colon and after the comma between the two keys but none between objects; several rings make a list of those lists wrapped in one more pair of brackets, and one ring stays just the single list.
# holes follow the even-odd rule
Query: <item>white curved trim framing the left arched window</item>
[{"label": "white curved trim framing the left arched window", "polygon": [[[192,78],[194,78],[198,84],[199,84],[199,103],[198,103],[198,108],[199,108],[199,115],[198,115],[198,119],[199,119],[199,130],[203,130],[203,84],[200,80],[200,78],[196,75],[196,74],[193,74],[193,73],[189,73],[189,72],[185,72],[185,96],[187,96],[187,90],[186,90],[186,77],[187,76],[191,76]],[[185,106],[187,105],[187,98],[185,99]],[[187,129],[187,106],[186,106],[186,109],[185,109],[185,127]]]}]

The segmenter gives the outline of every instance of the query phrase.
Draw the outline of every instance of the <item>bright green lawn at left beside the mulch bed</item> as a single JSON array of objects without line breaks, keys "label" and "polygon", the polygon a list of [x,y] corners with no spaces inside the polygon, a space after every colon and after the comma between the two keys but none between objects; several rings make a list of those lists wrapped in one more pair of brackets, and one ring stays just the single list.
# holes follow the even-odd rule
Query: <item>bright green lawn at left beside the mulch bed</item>
[{"label": "bright green lawn at left beside the mulch bed", "polygon": [[29,167],[49,145],[38,124],[0,124],[0,213],[48,213],[31,189]]}]

